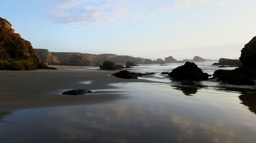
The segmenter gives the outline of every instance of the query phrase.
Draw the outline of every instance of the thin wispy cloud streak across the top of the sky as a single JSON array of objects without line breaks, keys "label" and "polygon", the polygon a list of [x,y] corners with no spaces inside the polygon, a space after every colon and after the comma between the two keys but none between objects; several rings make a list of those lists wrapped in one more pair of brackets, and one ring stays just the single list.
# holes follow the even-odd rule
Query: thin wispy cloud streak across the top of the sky
[{"label": "thin wispy cloud streak across the top of the sky", "polygon": [[[122,18],[143,18],[160,12],[193,7],[212,0],[62,0],[48,9],[55,23],[99,25]],[[218,1],[218,0],[217,0]]]}]

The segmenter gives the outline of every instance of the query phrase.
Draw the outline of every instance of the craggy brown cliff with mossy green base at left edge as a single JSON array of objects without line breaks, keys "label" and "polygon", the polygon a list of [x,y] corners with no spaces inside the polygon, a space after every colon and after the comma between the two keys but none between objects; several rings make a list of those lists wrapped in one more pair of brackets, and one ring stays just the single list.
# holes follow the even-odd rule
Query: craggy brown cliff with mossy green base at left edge
[{"label": "craggy brown cliff with mossy green base at left edge", "polygon": [[0,17],[0,70],[54,69],[43,64],[29,41]]}]

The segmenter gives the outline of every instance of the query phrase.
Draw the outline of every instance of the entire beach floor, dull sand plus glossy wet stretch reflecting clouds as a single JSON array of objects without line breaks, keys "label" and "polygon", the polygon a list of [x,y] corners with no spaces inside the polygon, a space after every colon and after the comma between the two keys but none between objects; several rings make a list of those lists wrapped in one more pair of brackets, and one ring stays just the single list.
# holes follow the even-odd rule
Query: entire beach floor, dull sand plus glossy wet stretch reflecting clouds
[{"label": "entire beach floor, dull sand plus glossy wet stretch reflecting clouds", "polygon": [[[254,87],[183,85],[159,73],[122,79],[111,76],[117,71],[53,67],[58,70],[0,71],[0,142],[256,139],[255,98],[241,98]],[[61,94],[72,89],[93,92]]]}]

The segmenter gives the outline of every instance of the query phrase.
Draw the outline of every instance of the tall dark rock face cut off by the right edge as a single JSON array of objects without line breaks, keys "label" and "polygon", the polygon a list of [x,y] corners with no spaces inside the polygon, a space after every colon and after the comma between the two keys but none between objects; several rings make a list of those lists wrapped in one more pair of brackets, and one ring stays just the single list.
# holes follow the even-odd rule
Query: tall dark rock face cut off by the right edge
[{"label": "tall dark rock face cut off by the right edge", "polygon": [[243,68],[248,72],[248,76],[256,78],[256,36],[241,50],[239,59],[243,63]]}]

